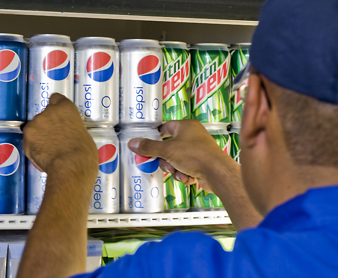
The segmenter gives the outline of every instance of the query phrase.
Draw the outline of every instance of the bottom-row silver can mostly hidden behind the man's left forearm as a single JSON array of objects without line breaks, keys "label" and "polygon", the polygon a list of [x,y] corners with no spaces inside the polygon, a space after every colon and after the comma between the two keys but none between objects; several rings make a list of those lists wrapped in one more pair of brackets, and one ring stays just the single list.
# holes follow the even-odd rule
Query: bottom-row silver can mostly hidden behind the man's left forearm
[{"label": "bottom-row silver can mostly hidden behind the man's left forearm", "polygon": [[37,214],[45,194],[47,174],[40,172],[27,161],[27,213]]}]

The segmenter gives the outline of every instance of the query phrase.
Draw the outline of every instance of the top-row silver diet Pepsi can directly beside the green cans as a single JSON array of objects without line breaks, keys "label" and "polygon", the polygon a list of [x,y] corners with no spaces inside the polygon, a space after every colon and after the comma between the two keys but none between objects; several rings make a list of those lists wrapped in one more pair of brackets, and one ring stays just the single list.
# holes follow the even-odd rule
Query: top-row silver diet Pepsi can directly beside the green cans
[{"label": "top-row silver diet Pepsi can directly beside the green cans", "polygon": [[120,49],[120,126],[162,123],[163,53],[158,41],[123,40]]}]

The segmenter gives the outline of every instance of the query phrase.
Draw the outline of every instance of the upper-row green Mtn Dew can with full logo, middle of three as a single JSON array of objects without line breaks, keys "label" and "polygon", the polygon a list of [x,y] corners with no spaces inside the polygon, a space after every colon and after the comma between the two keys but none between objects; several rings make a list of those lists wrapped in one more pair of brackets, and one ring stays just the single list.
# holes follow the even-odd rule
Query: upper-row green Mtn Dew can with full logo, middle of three
[{"label": "upper-row green Mtn Dew can with full logo, middle of three", "polygon": [[231,121],[231,65],[226,44],[191,46],[191,117],[201,122]]}]

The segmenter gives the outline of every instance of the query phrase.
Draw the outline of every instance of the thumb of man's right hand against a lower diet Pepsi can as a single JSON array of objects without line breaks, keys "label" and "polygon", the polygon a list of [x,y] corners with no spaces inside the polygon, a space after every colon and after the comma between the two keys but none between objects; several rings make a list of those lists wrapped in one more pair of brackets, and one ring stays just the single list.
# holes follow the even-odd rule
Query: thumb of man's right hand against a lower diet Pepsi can
[{"label": "thumb of man's right hand against a lower diet Pepsi can", "polygon": [[156,141],[146,138],[133,138],[128,142],[128,147],[137,155],[143,157],[163,158],[165,141]]}]

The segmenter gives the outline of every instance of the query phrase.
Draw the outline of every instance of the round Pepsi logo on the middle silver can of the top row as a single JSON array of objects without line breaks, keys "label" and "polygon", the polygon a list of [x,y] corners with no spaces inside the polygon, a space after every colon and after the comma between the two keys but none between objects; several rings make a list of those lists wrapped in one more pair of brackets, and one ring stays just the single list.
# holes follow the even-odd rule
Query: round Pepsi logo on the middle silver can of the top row
[{"label": "round Pepsi logo on the middle silver can of the top row", "polygon": [[114,72],[112,57],[106,52],[96,52],[87,61],[87,73],[97,82],[105,82]]}]

